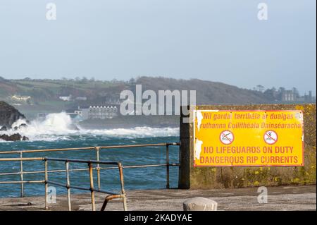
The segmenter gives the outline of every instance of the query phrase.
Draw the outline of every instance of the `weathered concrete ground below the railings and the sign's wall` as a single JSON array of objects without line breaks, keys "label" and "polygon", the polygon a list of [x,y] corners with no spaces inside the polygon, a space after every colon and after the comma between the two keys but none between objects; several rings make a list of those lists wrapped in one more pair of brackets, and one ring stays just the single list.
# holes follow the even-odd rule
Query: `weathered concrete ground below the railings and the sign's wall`
[{"label": "weathered concrete ground below the railings and the sign's wall", "polygon": [[[268,203],[259,204],[257,188],[217,190],[128,190],[129,210],[179,210],[192,197],[218,202],[218,210],[316,210],[316,186],[279,186],[268,188]],[[105,195],[97,194],[97,210]],[[32,202],[32,205],[27,205]],[[72,195],[73,210],[91,210],[90,194]],[[58,195],[51,210],[67,210],[66,195]],[[0,198],[0,210],[44,210],[44,196]],[[106,210],[123,210],[119,200],[109,202]]]}]

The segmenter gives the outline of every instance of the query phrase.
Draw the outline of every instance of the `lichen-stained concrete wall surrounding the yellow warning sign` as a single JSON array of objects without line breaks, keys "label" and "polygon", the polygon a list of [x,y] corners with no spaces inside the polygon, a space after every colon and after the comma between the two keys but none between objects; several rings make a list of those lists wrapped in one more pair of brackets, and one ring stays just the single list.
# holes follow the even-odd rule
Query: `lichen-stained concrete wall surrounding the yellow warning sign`
[{"label": "lichen-stained concrete wall surrounding the yellow warning sign", "polygon": [[183,118],[189,116],[182,115],[180,118],[179,188],[242,188],[316,183],[316,104],[197,106],[195,109],[302,110],[304,112],[304,166],[194,167],[193,123],[183,123]]}]

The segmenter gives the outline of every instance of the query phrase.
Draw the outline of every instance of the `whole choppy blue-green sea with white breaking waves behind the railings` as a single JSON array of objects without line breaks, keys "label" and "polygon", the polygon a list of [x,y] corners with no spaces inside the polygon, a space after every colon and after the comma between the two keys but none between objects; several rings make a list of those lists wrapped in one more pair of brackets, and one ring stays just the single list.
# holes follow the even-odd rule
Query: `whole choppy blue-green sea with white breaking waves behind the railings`
[{"label": "whole choppy blue-green sea with white breaking waves behind the railings", "polygon": [[[16,121],[14,126],[26,121]],[[73,123],[65,113],[49,114],[44,120],[30,121],[27,127],[19,130],[9,130],[6,133],[20,133],[30,140],[20,142],[5,142],[0,140],[0,153],[15,150],[42,150],[75,147],[97,147],[108,145],[137,145],[179,141],[179,128],[116,128],[87,129]],[[0,134],[4,132],[0,131]],[[123,166],[165,164],[166,147],[129,147],[121,149],[100,150],[100,160],[121,162]],[[0,154],[0,158],[20,157],[20,154]],[[24,153],[23,157],[54,157],[63,159],[96,160],[95,150],[75,150],[63,152]],[[179,162],[179,147],[170,146],[170,163]],[[70,169],[84,169],[87,164],[70,163]],[[64,162],[49,162],[49,170],[65,169]],[[0,162],[0,173],[17,173],[20,162]],[[44,171],[44,162],[25,161],[23,171]],[[111,192],[120,191],[118,169],[101,170],[101,189]],[[162,189],[166,188],[166,167],[125,168],[123,176],[126,190]],[[42,181],[44,173],[24,174],[24,181]],[[0,197],[20,197],[19,183],[1,183],[1,181],[20,181],[19,174],[0,175]],[[49,181],[66,185],[66,172],[49,173]],[[70,185],[89,188],[88,171],[71,171]],[[170,166],[170,188],[178,186],[178,167]],[[97,171],[94,170],[94,187],[97,188]],[[67,193],[66,188],[51,186],[57,195]],[[85,193],[85,190],[71,189],[71,193]],[[25,196],[44,195],[43,183],[25,183]]]}]

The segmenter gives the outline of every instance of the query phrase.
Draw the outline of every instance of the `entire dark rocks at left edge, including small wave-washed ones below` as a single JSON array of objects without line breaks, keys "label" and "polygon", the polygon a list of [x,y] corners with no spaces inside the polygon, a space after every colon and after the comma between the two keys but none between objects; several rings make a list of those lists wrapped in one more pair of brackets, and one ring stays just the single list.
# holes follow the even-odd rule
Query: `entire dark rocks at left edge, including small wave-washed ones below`
[{"label": "entire dark rocks at left edge, including small wave-washed ones below", "polygon": [[8,130],[19,130],[20,128],[27,126],[26,123],[23,123],[20,126],[12,127],[19,119],[25,119],[25,116],[6,102],[0,102],[0,140],[29,140],[27,137],[20,135],[20,133],[14,133],[12,135],[6,133]]}]

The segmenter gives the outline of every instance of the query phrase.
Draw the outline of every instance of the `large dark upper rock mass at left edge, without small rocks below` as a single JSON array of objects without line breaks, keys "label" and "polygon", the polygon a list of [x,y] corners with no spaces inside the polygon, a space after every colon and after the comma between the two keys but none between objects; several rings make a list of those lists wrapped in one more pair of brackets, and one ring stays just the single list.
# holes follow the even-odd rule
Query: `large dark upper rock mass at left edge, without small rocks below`
[{"label": "large dark upper rock mass at left edge, without small rocks below", "polygon": [[0,102],[0,127],[3,128],[4,126],[7,129],[10,129],[12,124],[18,119],[25,119],[23,114],[12,107],[11,105],[7,104],[6,102]]}]

